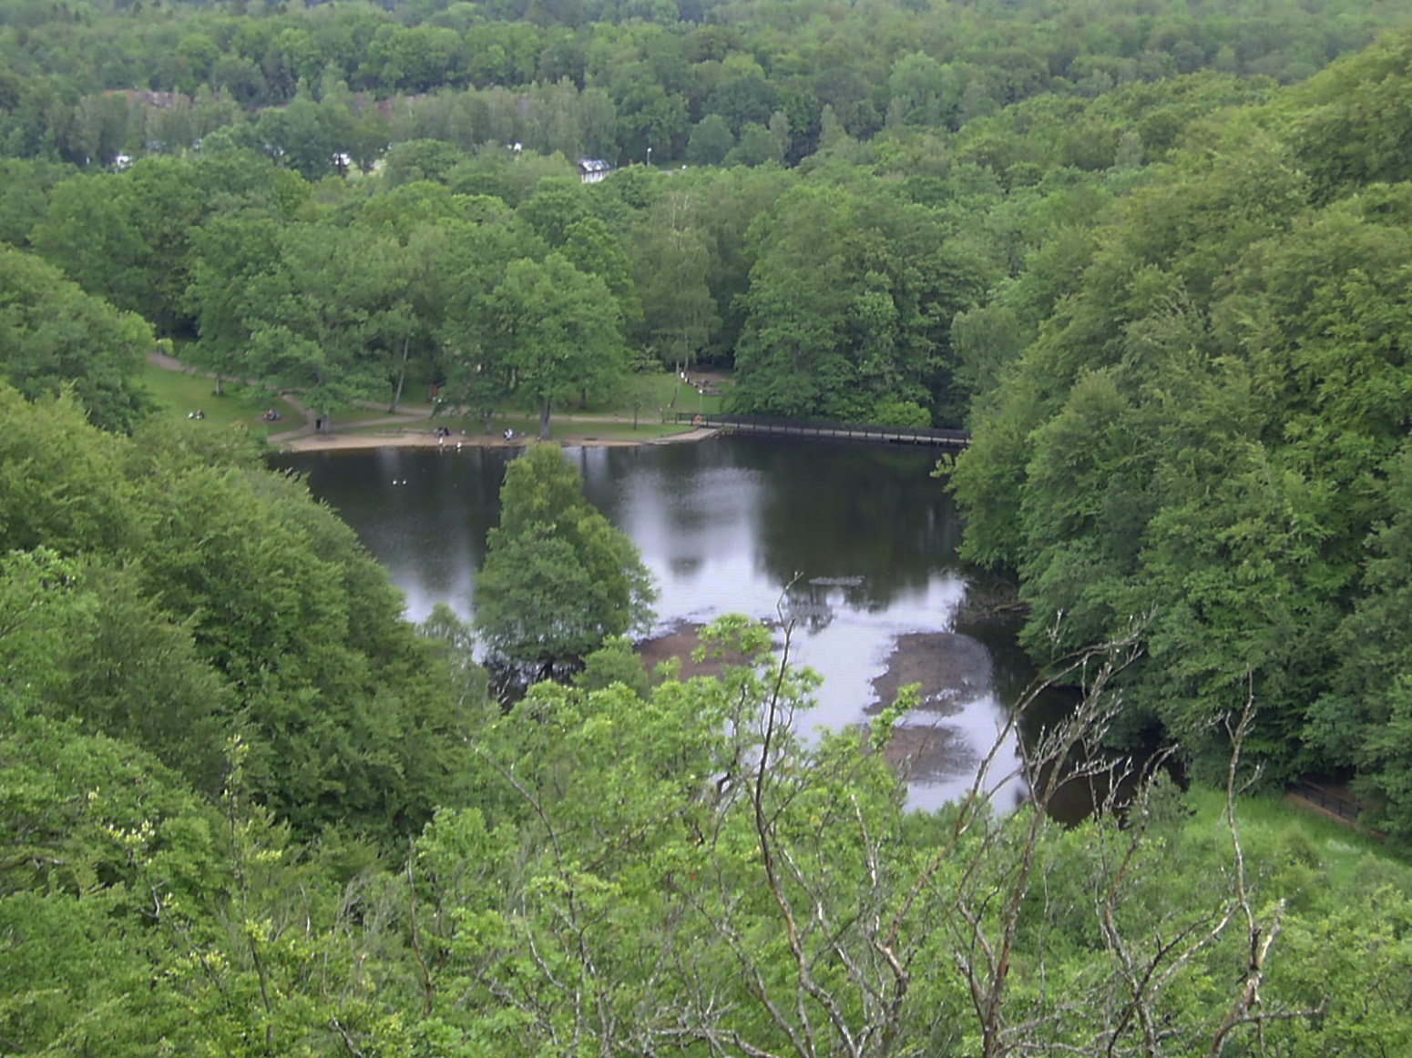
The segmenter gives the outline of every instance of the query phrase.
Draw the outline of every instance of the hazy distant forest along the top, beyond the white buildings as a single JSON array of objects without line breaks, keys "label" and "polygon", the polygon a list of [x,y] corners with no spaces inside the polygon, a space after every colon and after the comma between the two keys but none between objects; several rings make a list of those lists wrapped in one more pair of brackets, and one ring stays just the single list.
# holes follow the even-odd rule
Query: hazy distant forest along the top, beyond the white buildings
[{"label": "hazy distant forest along the top, beyond the white buildings", "polygon": [[1203,69],[1292,83],[1408,14],[1351,0],[8,0],[0,152],[112,165],[249,126],[309,178],[424,137],[614,164],[648,148],[664,164],[795,164],[830,123],[861,140],[956,130],[1034,96]]}]

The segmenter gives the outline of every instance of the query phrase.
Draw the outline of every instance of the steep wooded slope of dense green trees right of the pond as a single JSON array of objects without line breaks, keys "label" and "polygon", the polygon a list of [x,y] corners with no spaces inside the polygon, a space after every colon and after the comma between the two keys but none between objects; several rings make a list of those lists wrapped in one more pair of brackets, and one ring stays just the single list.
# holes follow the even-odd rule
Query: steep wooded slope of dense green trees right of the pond
[{"label": "steep wooded slope of dense green trees right of the pond", "polygon": [[[1274,772],[1354,770],[1412,834],[1404,554],[1406,35],[1196,126],[1014,326],[953,481],[971,557],[1018,571],[1032,650],[1132,621],[1128,724],[1203,738],[1254,695]],[[1027,286],[1056,291],[1039,310]]]}]

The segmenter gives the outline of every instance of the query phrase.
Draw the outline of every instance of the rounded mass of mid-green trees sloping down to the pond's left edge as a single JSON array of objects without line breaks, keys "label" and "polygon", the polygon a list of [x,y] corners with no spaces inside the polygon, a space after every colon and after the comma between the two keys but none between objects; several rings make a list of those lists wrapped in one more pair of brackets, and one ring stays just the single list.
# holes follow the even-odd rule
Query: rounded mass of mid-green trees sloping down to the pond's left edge
[{"label": "rounded mass of mid-green trees sloping down to the pond's left edge", "polygon": [[93,564],[72,598],[24,608],[24,636],[59,649],[31,669],[35,708],[185,758],[205,790],[220,784],[210,725],[239,734],[251,790],[302,835],[395,842],[460,796],[474,695],[299,482],[176,430],[100,433],[69,402],[4,389],[0,409],[0,549]]}]

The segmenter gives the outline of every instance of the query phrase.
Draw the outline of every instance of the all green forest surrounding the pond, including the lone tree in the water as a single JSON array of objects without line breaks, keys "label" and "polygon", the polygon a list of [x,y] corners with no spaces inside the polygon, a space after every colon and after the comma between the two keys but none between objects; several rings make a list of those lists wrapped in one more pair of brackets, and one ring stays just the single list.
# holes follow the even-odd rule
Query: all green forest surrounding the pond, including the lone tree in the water
[{"label": "all green forest surrounding the pond, including the lone tree in the water", "polygon": [[[1412,837],[1406,14],[0,0],[0,1051],[1408,1051],[1408,869],[1244,794]],[[551,447],[479,633],[582,670],[493,701],[301,482],[152,415],[160,339],[318,412],[548,427],[705,363],[970,426],[966,550],[1073,719],[1031,804],[916,814],[905,694],[801,739],[736,618],[647,680]],[[1151,736],[1189,790],[1049,821]]]}]

